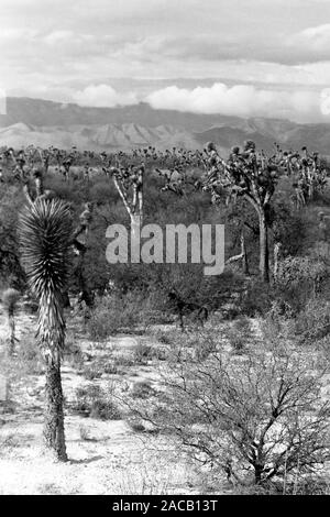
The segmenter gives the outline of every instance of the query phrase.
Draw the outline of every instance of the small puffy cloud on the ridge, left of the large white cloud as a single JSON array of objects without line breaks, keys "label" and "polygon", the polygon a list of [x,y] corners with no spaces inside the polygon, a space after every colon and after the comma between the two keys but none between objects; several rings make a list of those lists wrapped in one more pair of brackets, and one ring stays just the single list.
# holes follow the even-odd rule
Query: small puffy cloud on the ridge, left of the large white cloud
[{"label": "small puffy cloud on the ridge, left of the large white cloud", "polygon": [[73,100],[81,106],[114,108],[116,106],[136,105],[134,92],[120,94],[108,85],[90,85],[73,95]]}]

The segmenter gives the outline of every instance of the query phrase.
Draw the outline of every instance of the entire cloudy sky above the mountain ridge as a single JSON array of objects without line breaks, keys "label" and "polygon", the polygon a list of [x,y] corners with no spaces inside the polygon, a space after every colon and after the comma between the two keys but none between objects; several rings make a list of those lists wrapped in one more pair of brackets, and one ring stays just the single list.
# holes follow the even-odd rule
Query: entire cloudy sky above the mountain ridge
[{"label": "entire cloudy sky above the mountain ridge", "polygon": [[330,0],[0,0],[0,88],[330,123]]}]

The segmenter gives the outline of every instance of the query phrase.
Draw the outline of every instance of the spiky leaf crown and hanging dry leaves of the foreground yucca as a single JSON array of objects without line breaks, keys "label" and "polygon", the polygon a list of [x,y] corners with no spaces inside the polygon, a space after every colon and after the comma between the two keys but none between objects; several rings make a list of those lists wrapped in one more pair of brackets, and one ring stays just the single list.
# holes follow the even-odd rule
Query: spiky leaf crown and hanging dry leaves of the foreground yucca
[{"label": "spiky leaf crown and hanging dry leaves of the foreground yucca", "polygon": [[37,199],[20,216],[22,265],[38,299],[37,338],[55,362],[64,346],[62,292],[66,286],[73,226],[69,207],[59,199]]}]

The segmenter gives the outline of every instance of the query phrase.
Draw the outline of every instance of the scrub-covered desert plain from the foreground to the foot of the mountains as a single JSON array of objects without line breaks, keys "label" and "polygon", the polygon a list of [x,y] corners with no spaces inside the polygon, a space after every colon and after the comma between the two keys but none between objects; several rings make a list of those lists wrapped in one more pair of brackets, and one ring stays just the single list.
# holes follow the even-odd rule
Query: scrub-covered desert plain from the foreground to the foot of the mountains
[{"label": "scrub-covered desert plain from the foreground to the foot of the mountains", "polygon": [[[136,215],[224,223],[224,272],[109,264]],[[0,455],[44,472],[3,493],[329,494],[329,235],[306,148],[2,150]]]}]

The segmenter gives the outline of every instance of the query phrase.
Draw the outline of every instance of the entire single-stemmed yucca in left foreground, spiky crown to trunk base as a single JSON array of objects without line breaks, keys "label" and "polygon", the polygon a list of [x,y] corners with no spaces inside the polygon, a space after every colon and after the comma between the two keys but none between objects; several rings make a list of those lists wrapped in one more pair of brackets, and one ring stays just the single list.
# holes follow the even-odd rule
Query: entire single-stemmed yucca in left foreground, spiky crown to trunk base
[{"label": "entire single-stemmed yucca in left foreground, spiky crown to trunk base", "polygon": [[62,293],[69,270],[73,227],[69,207],[59,199],[36,199],[19,220],[22,265],[38,300],[36,338],[46,365],[44,440],[66,461],[61,358],[65,341]]}]

